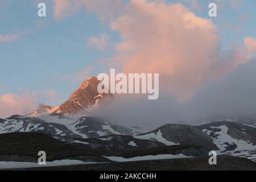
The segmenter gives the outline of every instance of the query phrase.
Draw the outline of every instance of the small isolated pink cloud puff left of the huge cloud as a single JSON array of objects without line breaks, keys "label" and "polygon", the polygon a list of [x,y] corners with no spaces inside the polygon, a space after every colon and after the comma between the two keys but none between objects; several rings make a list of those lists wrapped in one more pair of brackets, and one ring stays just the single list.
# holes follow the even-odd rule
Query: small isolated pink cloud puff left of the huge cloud
[{"label": "small isolated pink cloud puff left of the huge cloud", "polygon": [[88,40],[88,46],[98,48],[104,51],[106,46],[108,46],[109,35],[101,34],[100,38],[92,36]]}]

